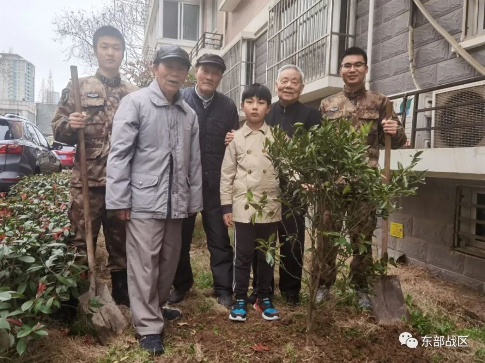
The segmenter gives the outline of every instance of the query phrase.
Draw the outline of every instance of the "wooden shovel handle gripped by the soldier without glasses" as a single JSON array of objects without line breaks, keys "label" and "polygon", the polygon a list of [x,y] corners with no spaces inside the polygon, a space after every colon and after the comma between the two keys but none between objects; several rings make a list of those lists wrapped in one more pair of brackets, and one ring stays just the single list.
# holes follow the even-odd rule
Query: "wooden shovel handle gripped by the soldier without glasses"
[{"label": "wooden shovel handle gripped by the soldier without glasses", "polygon": [[[78,67],[71,65],[71,82],[74,96],[74,111],[81,113],[81,93],[79,91]],[[95,276],[95,254],[93,243],[93,227],[91,226],[91,210],[89,208],[89,185],[86,167],[86,147],[84,144],[84,130],[78,129],[78,145],[79,159],[81,162],[81,185],[82,185],[82,206],[84,208],[84,226],[86,227],[86,248],[88,252],[88,266],[91,271],[91,279],[94,281]]]}]

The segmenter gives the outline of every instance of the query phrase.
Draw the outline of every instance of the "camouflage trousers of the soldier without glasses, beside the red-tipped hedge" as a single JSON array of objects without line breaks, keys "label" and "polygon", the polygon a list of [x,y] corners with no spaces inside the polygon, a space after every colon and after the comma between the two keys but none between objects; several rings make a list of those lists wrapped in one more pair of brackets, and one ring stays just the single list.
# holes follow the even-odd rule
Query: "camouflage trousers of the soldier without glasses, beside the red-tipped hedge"
[{"label": "camouflage trousers of the soldier without glasses, beside the red-tipped hedge", "polygon": [[[106,188],[104,186],[89,188],[89,206],[94,246],[96,249],[99,229],[103,226],[104,240],[108,251],[108,269],[110,271],[126,270],[125,223],[117,219],[114,212],[106,211],[105,192]],[[86,252],[86,227],[84,224],[81,188],[71,187],[67,215],[74,232],[72,244],[80,251]]]}]

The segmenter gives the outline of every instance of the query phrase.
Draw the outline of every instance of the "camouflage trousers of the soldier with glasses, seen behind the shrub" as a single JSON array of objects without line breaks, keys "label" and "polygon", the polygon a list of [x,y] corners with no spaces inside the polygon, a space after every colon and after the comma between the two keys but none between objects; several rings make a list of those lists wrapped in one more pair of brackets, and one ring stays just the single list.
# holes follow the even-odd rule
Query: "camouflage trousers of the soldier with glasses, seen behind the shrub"
[{"label": "camouflage trousers of the soldier with glasses, seen behind the shrub", "polygon": [[[358,212],[356,212],[358,211]],[[375,210],[370,209],[365,203],[357,203],[355,210],[347,210],[347,214],[355,215],[355,221],[347,221],[352,223],[355,227],[350,233],[350,242],[352,246],[352,262],[350,263],[350,279],[357,288],[365,288],[368,286],[367,278],[369,276],[368,269],[372,264],[372,246],[367,245],[367,250],[359,253],[359,245],[362,241],[369,241],[372,243],[372,235],[377,223]],[[327,211],[323,213],[324,230],[339,231],[342,228],[341,222],[331,222],[330,215]],[[363,240],[360,235],[363,235]],[[334,246],[334,241],[331,238],[323,238],[323,272],[320,277],[320,285],[330,287],[335,283],[337,278],[337,254],[338,247]]]}]

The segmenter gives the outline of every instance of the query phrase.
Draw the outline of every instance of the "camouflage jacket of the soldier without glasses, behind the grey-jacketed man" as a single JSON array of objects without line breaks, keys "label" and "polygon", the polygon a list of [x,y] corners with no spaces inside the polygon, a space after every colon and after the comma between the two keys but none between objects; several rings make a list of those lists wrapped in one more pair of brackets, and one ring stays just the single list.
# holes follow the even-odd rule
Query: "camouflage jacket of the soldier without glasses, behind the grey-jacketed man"
[{"label": "camouflage jacket of the soldier without glasses, behind the grey-jacketed man", "polygon": [[[86,167],[89,186],[106,185],[106,161],[110,151],[113,117],[121,99],[138,87],[123,82],[119,77],[109,79],[96,76],[79,79],[82,111],[87,113],[84,129]],[[59,105],[52,119],[54,139],[65,144],[78,142],[77,132],[69,127],[69,115],[74,112],[74,94],[71,82],[62,91]],[[72,167],[71,186],[81,187],[81,163],[76,153]]]}]

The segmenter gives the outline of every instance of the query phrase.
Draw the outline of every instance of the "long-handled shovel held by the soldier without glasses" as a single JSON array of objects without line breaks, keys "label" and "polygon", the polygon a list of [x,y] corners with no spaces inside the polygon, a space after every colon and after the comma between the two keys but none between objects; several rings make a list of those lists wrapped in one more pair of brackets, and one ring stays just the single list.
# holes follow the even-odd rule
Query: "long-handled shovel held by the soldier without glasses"
[{"label": "long-handled shovel held by the soldier without glasses", "polygon": [[[72,90],[74,93],[74,108],[81,112],[81,94],[79,91],[78,68],[71,66]],[[128,321],[121,313],[119,307],[113,302],[110,291],[106,284],[96,283],[96,260],[93,243],[93,228],[91,226],[91,212],[89,209],[89,187],[86,171],[86,148],[84,145],[84,130],[78,130],[78,150],[81,160],[81,184],[82,204],[84,207],[84,225],[86,226],[86,248],[89,266],[89,290],[79,297],[81,314],[89,316],[92,314],[92,321],[96,337],[101,344],[106,344],[110,336],[122,332],[128,327]],[[93,309],[90,307],[91,299],[98,296],[97,303],[101,307]]]}]

